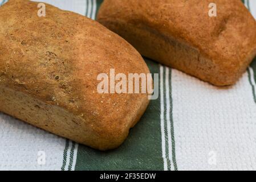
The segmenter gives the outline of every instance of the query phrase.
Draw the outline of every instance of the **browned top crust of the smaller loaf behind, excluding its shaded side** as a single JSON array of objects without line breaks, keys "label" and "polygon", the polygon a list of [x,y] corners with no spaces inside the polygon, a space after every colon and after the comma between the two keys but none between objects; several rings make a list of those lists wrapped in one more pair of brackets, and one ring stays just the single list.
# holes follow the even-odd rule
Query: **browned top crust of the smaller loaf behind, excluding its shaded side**
[{"label": "browned top crust of the smaller loaf behind, excluding its shaded side", "polygon": [[[217,5],[216,17],[209,16],[210,3]],[[97,17],[103,24],[125,22],[198,49],[220,75],[230,76],[214,81],[217,85],[236,81],[256,53],[256,22],[240,0],[105,0]]]}]

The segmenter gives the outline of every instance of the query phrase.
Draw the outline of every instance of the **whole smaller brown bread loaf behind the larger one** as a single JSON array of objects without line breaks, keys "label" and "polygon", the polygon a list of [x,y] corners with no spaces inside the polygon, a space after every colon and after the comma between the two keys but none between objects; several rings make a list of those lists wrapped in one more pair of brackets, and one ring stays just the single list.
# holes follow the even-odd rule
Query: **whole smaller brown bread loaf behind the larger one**
[{"label": "whole smaller brown bread loaf behind the larger one", "polygon": [[97,21],[142,55],[218,86],[256,55],[256,22],[241,0],[105,0]]}]

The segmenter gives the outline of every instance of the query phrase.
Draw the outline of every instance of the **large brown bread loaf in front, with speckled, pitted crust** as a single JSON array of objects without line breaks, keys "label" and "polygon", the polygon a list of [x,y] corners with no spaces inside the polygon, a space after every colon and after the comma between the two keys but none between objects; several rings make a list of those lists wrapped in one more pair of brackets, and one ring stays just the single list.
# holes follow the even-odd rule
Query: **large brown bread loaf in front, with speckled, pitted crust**
[{"label": "large brown bread loaf in front, with speckled, pitted crust", "polygon": [[149,73],[119,35],[85,16],[11,0],[0,7],[0,111],[99,150],[118,147],[148,94],[101,94],[100,73]]}]

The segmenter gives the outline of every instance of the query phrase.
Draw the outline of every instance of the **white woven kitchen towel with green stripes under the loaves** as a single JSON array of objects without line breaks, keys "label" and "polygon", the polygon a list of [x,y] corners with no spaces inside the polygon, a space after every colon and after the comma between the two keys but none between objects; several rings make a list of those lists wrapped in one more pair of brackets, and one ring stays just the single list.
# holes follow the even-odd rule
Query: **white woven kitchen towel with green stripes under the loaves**
[{"label": "white woven kitchen towel with green stripes under the loaves", "polygon": [[[103,1],[42,2],[95,19]],[[256,1],[243,2],[256,18]],[[159,98],[119,148],[96,151],[0,113],[0,169],[256,170],[256,59],[226,88],[145,61]]]}]

